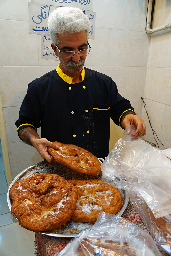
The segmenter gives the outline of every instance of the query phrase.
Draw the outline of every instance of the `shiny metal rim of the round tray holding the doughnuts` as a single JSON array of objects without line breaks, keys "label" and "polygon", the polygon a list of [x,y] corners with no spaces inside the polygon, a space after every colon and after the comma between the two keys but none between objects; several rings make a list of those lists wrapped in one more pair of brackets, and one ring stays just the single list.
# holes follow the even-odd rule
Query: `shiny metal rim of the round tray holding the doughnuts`
[{"label": "shiny metal rim of the round tray holding the doughnuts", "polygon": [[[27,172],[27,170],[29,170],[30,168],[33,168],[34,166],[36,166],[36,165],[39,165],[39,164],[46,164],[46,163],[48,163],[46,160],[44,160],[44,161],[41,161],[41,162],[38,162],[38,163],[36,163],[36,164],[33,164],[33,165],[30,165],[29,167],[27,167],[26,169],[24,169],[22,172],[20,172],[14,179],[13,179],[13,181],[11,182],[11,184],[9,185],[9,188],[8,188],[8,191],[7,191],[7,204],[8,204],[8,207],[9,207],[9,210],[10,210],[10,212],[11,212],[11,206],[12,206],[12,204],[11,204],[11,199],[10,199],[10,196],[9,196],[9,190],[10,190],[10,188],[13,186],[13,184],[18,180],[18,179],[20,179],[20,177],[22,177],[22,175],[23,174],[25,174],[26,172]],[[113,175],[114,177],[116,177],[115,175]],[[30,176],[31,177],[31,176]],[[121,180],[121,178],[119,178],[119,177],[116,177],[118,180]],[[123,206],[121,207],[121,209],[120,209],[120,211],[119,211],[119,213],[117,214],[116,213],[116,215],[119,215],[119,216],[121,216],[123,213],[124,213],[124,211],[125,211],[125,209],[126,209],[126,207],[127,207],[127,205],[128,205],[128,201],[129,201],[129,194],[128,194],[128,192],[127,192],[127,190],[125,190],[124,188],[123,188],[123,190],[124,190],[124,192],[125,192],[125,200],[124,200],[124,204],[123,204]],[[14,216],[14,218],[19,222],[19,220]],[[85,230],[85,229],[84,229]],[[81,232],[81,231],[80,231]],[[58,233],[46,233],[46,232],[38,232],[38,233],[41,233],[41,234],[44,234],[44,235],[46,235],[46,236],[52,236],[52,237],[70,237],[70,238],[72,238],[72,237],[76,237],[79,233],[77,233],[77,234],[58,234]]]}]

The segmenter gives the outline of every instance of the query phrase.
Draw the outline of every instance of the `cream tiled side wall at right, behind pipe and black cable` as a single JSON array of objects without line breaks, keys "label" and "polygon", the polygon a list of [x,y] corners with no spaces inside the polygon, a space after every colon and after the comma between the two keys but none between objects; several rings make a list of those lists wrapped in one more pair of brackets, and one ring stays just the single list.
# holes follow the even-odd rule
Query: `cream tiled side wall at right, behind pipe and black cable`
[{"label": "cream tiled side wall at right, behind pipe and black cable", "polygon": [[[171,6],[169,0],[155,2],[153,27],[170,23]],[[151,35],[144,101],[152,127],[159,140],[166,148],[171,147],[170,120],[171,120],[171,63],[170,63],[170,39],[171,29],[153,33]],[[147,115],[142,111],[142,117],[146,121],[147,134],[145,138],[154,141],[152,130],[149,127]],[[158,141],[160,149],[164,149]]]}]

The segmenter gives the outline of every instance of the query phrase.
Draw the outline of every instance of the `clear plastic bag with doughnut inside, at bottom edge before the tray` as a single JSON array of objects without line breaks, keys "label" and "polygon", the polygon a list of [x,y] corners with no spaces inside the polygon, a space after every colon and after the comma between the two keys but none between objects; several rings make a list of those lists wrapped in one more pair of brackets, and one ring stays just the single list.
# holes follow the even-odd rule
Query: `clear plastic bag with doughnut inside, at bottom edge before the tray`
[{"label": "clear plastic bag with doughnut inside, at bottom edge before the tray", "polygon": [[96,223],[72,239],[59,256],[161,256],[152,237],[118,215],[100,212]]}]

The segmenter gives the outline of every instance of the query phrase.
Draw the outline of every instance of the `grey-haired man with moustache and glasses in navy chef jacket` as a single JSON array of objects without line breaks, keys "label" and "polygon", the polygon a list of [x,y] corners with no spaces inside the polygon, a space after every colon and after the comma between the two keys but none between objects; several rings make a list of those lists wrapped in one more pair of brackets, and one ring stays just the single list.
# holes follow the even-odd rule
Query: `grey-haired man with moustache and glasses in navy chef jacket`
[{"label": "grey-haired man with moustache and glasses in navy chef jacket", "polygon": [[[97,157],[109,153],[110,117],[125,129],[136,127],[133,137],[146,133],[144,121],[130,102],[117,92],[114,81],[84,68],[90,21],[78,8],[59,7],[49,16],[48,28],[60,63],[28,86],[16,121],[19,137],[52,162],[47,147],[53,141],[74,144]],[[41,139],[36,130],[41,126]]]}]

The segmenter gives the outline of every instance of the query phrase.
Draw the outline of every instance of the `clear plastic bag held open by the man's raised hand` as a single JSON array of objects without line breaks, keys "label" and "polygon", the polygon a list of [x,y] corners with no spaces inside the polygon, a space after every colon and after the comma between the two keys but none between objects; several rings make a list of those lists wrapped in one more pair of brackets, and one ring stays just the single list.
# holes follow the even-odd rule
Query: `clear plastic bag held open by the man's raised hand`
[{"label": "clear plastic bag held open by the man's raised hand", "polygon": [[125,129],[101,165],[104,176],[114,174],[134,184],[155,218],[171,214],[171,161],[142,138],[133,139],[135,127]]}]

